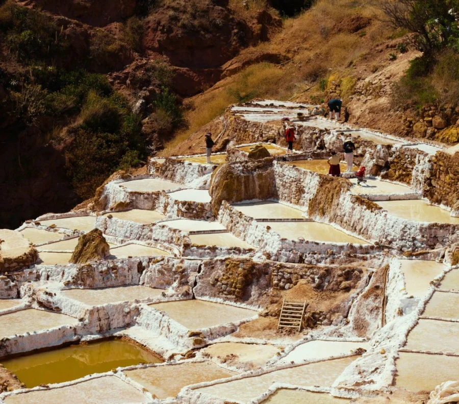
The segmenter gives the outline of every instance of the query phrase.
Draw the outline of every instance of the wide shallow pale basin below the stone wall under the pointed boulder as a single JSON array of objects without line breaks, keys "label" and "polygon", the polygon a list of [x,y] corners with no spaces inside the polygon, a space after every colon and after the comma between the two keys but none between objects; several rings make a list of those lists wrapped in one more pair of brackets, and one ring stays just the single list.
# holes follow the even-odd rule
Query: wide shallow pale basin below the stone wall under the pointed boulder
[{"label": "wide shallow pale basin below the stone wall under the pointed boulder", "polygon": [[62,294],[89,306],[99,306],[107,303],[155,298],[161,296],[163,292],[162,289],[147,286],[120,286],[104,289],[67,289],[62,291]]}]

